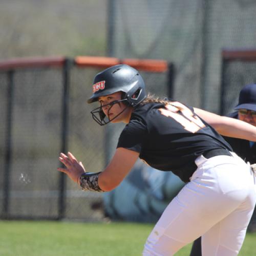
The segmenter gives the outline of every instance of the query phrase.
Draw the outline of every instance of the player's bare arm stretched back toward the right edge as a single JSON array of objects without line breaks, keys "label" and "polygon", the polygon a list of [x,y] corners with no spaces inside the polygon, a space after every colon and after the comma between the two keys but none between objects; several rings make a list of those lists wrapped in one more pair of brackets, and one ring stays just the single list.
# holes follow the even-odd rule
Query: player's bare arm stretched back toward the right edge
[{"label": "player's bare arm stretched back toward the right edge", "polygon": [[194,108],[194,111],[223,136],[256,141],[256,127],[247,122],[202,109]]}]

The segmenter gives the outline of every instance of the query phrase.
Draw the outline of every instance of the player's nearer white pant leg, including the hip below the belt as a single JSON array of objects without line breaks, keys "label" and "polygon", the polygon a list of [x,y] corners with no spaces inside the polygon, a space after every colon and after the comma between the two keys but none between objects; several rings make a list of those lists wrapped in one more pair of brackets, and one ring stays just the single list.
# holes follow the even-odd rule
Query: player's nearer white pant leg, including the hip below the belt
[{"label": "player's nearer white pant leg, including the hip below the belt", "polygon": [[[255,188],[252,188],[253,178],[249,167],[240,158],[229,156],[208,160],[201,156],[196,163],[198,169],[191,181],[166,207],[146,241],[143,255],[173,255],[225,219],[240,205],[246,205],[250,199],[251,202],[246,206],[248,217],[239,221],[241,226],[247,226],[249,208],[255,203]],[[227,225],[226,230],[229,231],[230,228]],[[233,239],[231,240],[225,244],[233,243]],[[207,242],[204,243],[205,246],[208,248]]]}]

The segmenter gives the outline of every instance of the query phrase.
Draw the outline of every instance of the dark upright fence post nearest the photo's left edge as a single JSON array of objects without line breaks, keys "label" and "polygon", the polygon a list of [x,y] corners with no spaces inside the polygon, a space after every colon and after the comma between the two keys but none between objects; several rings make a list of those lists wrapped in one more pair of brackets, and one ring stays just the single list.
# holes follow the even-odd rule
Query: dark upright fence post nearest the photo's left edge
[{"label": "dark upright fence post nearest the photo's left edge", "polygon": [[5,140],[5,167],[4,167],[4,185],[3,185],[3,217],[9,216],[9,195],[10,195],[10,170],[12,157],[12,115],[13,115],[13,82],[14,71],[8,71],[8,89],[7,89],[7,111],[6,111],[6,140]]}]

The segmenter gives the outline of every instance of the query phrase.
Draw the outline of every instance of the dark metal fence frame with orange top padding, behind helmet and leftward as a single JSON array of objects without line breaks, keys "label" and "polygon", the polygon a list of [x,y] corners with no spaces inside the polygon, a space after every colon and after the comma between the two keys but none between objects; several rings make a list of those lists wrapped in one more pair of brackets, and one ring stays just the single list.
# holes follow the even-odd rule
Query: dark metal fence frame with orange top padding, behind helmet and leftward
[{"label": "dark metal fence frame with orange top padding, behind helmet and leftward", "polygon": [[[62,69],[62,106],[61,106],[61,145],[60,151],[66,152],[68,148],[68,120],[69,120],[69,91],[70,91],[70,72],[73,66],[87,68],[108,68],[113,65],[125,63],[138,70],[148,72],[167,72],[168,97],[173,97],[174,65],[165,60],[148,59],[117,59],[111,57],[91,57],[77,56],[74,59],[67,57],[37,57],[37,58],[16,58],[0,61],[0,72],[8,74],[7,108],[6,108],[6,138],[4,149],[4,186],[3,186],[3,210],[0,219],[51,219],[61,220],[65,218],[66,210],[66,175],[59,174],[58,179],[58,216],[54,217],[33,217],[33,216],[12,216],[9,213],[10,201],[10,171],[12,164],[12,111],[13,111],[13,92],[15,90],[14,74],[18,69],[51,68],[59,67]],[[107,158],[106,158],[107,159]]]}]

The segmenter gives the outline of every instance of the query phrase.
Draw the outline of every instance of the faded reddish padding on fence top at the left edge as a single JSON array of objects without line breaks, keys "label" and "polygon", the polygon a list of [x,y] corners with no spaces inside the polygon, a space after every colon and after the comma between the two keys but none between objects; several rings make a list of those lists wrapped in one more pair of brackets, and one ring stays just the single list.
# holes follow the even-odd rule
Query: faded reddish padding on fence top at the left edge
[{"label": "faded reddish padding on fence top at the left edge", "polygon": [[49,66],[61,67],[63,66],[65,60],[65,57],[13,58],[0,61],[0,70],[10,70],[16,68],[40,68]]}]

